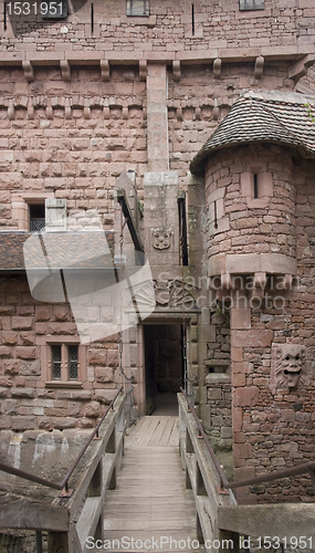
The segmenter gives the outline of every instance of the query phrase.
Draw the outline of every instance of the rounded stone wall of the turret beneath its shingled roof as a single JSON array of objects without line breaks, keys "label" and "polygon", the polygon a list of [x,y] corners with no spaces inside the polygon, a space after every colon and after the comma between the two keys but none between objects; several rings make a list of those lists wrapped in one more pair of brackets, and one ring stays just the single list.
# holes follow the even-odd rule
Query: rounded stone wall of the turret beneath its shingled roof
[{"label": "rounded stone wall of the turret beneath its shingled roof", "polygon": [[[242,187],[243,174],[252,165],[264,167],[273,187],[266,200],[258,198],[258,204],[251,201]],[[208,215],[209,258],[220,253],[295,257],[295,188],[290,152],[275,145],[251,145],[233,148],[229,156],[219,153],[214,163],[209,163],[206,175],[207,204],[209,196],[220,189],[224,197],[221,212],[218,208],[218,230],[213,230],[212,213]],[[220,219],[225,222],[222,231]]]}]

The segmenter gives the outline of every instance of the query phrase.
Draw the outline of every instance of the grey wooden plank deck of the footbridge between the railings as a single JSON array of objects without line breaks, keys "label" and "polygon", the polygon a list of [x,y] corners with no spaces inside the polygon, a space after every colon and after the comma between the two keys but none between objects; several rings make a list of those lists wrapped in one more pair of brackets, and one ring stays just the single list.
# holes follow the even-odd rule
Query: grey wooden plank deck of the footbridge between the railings
[{"label": "grey wooden plank deck of the footbridge between the railings", "polygon": [[150,416],[128,429],[117,488],[105,502],[106,546],[113,545],[106,551],[193,550],[196,507],[192,491],[186,490],[177,424],[178,417]]}]

